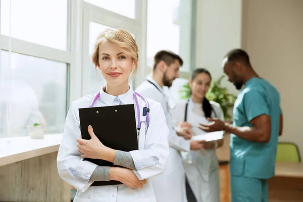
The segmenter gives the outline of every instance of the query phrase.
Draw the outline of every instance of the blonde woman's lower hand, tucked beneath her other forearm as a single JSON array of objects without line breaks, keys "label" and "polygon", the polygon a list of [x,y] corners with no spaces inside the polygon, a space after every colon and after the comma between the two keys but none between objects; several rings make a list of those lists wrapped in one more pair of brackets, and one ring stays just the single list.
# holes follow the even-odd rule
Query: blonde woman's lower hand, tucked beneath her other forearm
[{"label": "blonde woman's lower hand, tucked beneath her other forearm", "polygon": [[111,167],[110,180],[122,182],[129,188],[143,188],[146,180],[139,180],[135,173],[128,168]]}]

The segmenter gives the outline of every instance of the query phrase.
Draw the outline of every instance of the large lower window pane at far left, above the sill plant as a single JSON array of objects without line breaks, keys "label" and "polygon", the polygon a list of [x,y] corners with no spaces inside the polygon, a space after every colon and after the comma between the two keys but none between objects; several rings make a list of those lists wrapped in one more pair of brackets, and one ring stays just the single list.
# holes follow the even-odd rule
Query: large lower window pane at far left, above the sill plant
[{"label": "large lower window pane at far left, above the sill plant", "polygon": [[67,65],[1,51],[0,137],[29,135],[39,123],[44,134],[61,133],[67,105]]}]

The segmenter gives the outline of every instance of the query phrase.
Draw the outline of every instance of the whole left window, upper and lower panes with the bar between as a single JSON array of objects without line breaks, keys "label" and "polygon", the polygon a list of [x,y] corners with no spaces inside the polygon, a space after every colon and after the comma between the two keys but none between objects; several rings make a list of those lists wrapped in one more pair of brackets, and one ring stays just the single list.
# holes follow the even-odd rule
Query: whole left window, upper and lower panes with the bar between
[{"label": "whole left window, upper and lower panes with the bar between", "polygon": [[0,2],[0,138],[28,136],[34,123],[44,134],[63,132],[69,98],[75,99],[69,92],[76,94],[79,81],[72,2]]}]

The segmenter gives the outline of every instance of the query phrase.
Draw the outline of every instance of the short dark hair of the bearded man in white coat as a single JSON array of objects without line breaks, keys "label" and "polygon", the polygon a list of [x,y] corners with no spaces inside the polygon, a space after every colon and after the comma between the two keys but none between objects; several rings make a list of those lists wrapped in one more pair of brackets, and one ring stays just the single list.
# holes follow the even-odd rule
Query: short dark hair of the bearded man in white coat
[{"label": "short dark hair of the bearded man in white coat", "polygon": [[181,59],[180,56],[178,56],[177,54],[175,54],[172,51],[159,51],[155,57],[154,57],[154,68],[153,70],[156,69],[157,65],[161,62],[164,61],[168,66],[170,66],[171,64],[173,64],[175,62],[175,60],[178,60],[180,63],[180,66],[183,65],[183,60]]}]

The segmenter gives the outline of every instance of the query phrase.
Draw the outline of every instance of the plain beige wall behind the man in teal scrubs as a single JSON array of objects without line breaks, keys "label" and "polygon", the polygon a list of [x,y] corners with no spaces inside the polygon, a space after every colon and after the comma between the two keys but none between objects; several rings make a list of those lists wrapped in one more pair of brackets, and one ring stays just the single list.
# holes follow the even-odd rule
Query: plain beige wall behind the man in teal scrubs
[{"label": "plain beige wall behind the man in teal scrubs", "polygon": [[303,1],[245,1],[242,40],[254,69],[280,92],[280,141],[295,142],[303,157]]}]

